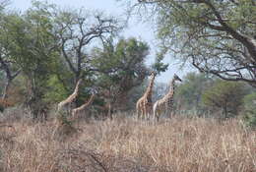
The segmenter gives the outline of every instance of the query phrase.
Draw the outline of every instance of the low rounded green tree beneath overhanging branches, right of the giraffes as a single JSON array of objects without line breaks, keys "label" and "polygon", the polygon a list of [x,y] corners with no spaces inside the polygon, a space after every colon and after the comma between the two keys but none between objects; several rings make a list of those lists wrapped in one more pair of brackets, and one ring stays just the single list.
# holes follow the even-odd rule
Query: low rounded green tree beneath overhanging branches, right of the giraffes
[{"label": "low rounded green tree beneath overhanging branches, right of the giraffes", "polygon": [[204,91],[202,100],[206,106],[223,114],[225,119],[238,114],[245,93],[242,83],[217,80]]}]

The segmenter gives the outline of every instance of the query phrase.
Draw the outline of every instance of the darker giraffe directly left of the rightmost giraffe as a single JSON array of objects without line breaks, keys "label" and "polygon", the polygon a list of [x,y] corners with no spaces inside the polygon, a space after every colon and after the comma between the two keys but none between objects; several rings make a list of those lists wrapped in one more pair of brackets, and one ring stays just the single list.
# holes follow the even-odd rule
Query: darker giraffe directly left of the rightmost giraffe
[{"label": "darker giraffe directly left of the rightmost giraffe", "polygon": [[144,95],[137,101],[136,103],[136,111],[138,119],[140,116],[150,117],[150,113],[152,113],[153,103],[152,103],[152,90],[154,86],[154,80],[156,77],[156,73],[152,72],[150,84],[147,87]]}]

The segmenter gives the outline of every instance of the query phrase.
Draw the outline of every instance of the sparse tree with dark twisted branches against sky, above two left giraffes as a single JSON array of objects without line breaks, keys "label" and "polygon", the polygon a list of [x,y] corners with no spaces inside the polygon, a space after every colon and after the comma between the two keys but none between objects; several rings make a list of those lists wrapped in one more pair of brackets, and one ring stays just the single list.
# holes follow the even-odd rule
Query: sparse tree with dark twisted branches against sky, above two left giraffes
[{"label": "sparse tree with dark twisted branches against sky, above two left giraffes", "polygon": [[85,9],[59,10],[55,15],[55,36],[59,40],[61,57],[73,74],[75,85],[80,78],[95,71],[88,52],[90,46],[94,42],[104,42],[122,28],[113,17]]}]

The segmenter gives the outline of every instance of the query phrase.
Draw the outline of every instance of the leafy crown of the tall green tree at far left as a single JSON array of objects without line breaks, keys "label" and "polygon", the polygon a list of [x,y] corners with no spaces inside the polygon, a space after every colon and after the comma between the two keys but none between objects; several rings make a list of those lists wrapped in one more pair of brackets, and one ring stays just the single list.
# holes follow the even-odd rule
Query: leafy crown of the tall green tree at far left
[{"label": "leafy crown of the tall green tree at far left", "polygon": [[30,9],[25,16],[9,15],[3,21],[11,57],[29,79],[44,81],[57,56],[53,48],[51,21],[41,9]]}]

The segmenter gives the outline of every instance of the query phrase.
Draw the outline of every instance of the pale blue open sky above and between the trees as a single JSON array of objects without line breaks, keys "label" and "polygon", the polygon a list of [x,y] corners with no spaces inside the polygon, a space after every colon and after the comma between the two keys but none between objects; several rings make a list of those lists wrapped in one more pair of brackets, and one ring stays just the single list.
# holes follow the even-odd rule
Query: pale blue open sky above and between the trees
[{"label": "pale blue open sky above and between the trees", "polygon": [[[47,2],[57,4],[63,8],[85,8],[90,10],[100,10],[111,16],[117,16],[118,18],[125,18],[125,6],[124,4],[117,2],[116,0],[48,0]],[[9,8],[16,9],[18,11],[25,11],[31,7],[31,0],[11,0]],[[125,29],[121,35],[124,37],[137,37],[140,40],[148,42],[151,47],[149,60],[147,64],[152,64],[157,51],[157,44],[155,33],[152,24],[145,24],[138,21],[138,18],[132,18],[129,21],[128,29]],[[169,64],[169,68],[165,73],[162,73],[157,77],[157,82],[168,83],[171,80],[173,74],[177,74],[183,77],[188,69],[179,70],[177,64],[171,62],[169,56],[164,59],[165,63]]]}]

